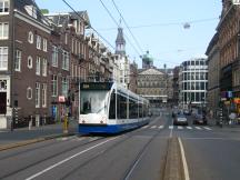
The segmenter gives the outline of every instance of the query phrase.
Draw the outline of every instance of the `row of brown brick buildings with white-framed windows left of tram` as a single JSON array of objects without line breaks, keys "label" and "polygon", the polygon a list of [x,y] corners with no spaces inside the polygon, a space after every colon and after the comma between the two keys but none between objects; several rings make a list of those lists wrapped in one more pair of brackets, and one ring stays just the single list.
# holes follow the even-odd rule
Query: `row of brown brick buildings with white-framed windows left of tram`
[{"label": "row of brown brick buildings with white-framed windows left of tram", "polygon": [[77,118],[79,83],[109,81],[114,67],[114,56],[86,36],[87,11],[43,16],[33,0],[0,6],[0,129]]}]

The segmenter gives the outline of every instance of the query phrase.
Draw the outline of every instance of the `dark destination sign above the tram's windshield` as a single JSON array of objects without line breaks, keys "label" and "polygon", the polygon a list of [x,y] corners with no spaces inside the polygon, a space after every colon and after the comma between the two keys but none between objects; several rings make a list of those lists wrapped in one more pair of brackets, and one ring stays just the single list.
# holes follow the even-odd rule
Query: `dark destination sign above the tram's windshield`
[{"label": "dark destination sign above the tram's windshield", "polygon": [[82,82],[81,90],[110,90],[112,82]]}]

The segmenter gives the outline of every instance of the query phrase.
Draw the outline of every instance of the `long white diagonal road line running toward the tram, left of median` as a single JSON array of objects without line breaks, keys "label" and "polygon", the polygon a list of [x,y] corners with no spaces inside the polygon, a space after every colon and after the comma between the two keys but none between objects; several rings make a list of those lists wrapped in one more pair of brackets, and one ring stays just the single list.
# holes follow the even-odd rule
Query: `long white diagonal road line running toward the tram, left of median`
[{"label": "long white diagonal road line running toward the tram, left of median", "polygon": [[33,176],[27,178],[26,180],[34,179],[34,178],[37,178],[37,177],[39,177],[39,176],[41,176],[41,174],[43,174],[43,173],[50,171],[51,169],[53,169],[53,168],[56,168],[56,167],[59,167],[60,164],[62,164],[62,163],[64,163],[64,162],[67,162],[67,161],[69,161],[69,160],[71,160],[71,159],[73,159],[73,158],[76,158],[76,157],[78,157],[78,156],[80,156],[80,154],[82,154],[82,153],[86,153],[86,152],[88,152],[88,151],[90,151],[90,150],[92,150],[92,149],[94,149],[94,148],[97,148],[97,147],[100,147],[100,146],[102,146],[102,144],[109,142],[109,141],[113,141],[113,140],[116,140],[117,138],[119,138],[119,137],[116,137],[116,138],[112,138],[112,139],[108,139],[108,140],[106,140],[106,141],[103,141],[103,142],[100,142],[100,143],[93,146],[93,147],[90,147],[90,148],[88,148],[88,149],[86,149],[86,150],[83,150],[83,151],[80,151],[80,152],[78,152],[78,153],[76,153],[76,154],[73,154],[73,156],[71,156],[71,157],[69,157],[69,158],[66,158],[66,159],[59,161],[58,163],[54,163],[54,164],[52,164],[52,166],[50,166],[50,167],[43,169],[42,171],[40,171],[40,172],[38,172],[38,173],[36,173],[36,174],[33,174]]}]

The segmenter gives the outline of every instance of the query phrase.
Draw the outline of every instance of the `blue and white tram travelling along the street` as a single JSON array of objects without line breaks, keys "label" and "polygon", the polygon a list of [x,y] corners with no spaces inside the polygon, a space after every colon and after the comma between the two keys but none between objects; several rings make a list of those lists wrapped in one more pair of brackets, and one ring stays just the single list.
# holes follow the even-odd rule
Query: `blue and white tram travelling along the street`
[{"label": "blue and white tram travelling along the street", "polygon": [[112,82],[80,86],[80,133],[118,133],[149,123],[144,98]]}]

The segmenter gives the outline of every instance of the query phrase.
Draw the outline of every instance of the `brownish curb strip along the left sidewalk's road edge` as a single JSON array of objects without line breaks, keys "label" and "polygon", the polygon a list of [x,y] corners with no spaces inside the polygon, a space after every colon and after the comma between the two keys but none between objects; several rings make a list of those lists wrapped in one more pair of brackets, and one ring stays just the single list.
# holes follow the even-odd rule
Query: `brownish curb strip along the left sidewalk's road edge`
[{"label": "brownish curb strip along the left sidewalk's road edge", "polygon": [[42,137],[42,138],[36,138],[36,139],[31,139],[31,140],[20,141],[20,142],[16,142],[16,143],[9,143],[9,144],[0,146],[0,151],[14,149],[14,148],[19,148],[19,147],[24,147],[28,144],[42,142],[42,141],[47,141],[47,140],[51,140],[51,139],[56,139],[56,138],[71,137],[74,134],[76,133],[60,133],[60,134],[53,134],[53,136],[47,136],[47,137]]}]

